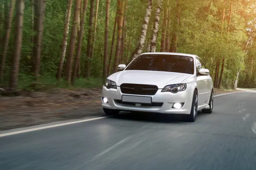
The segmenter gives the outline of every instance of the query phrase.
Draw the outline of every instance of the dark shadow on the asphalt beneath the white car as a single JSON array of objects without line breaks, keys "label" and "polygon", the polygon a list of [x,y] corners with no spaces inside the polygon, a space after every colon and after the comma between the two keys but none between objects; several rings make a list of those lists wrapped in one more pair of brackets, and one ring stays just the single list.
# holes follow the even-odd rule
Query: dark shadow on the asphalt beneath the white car
[{"label": "dark shadow on the asphalt beneath the white car", "polygon": [[[204,113],[198,111],[197,119],[203,116]],[[119,115],[111,116],[109,119],[123,119],[129,121],[140,122],[158,122],[158,123],[189,123],[183,119],[183,115],[177,114],[160,114],[146,112],[120,112]]]}]

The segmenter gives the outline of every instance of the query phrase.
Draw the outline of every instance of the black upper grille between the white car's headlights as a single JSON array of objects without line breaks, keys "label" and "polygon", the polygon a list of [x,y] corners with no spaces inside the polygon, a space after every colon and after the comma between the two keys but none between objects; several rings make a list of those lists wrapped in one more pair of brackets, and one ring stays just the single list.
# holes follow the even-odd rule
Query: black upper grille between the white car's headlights
[{"label": "black upper grille between the white car's headlights", "polygon": [[124,83],[120,85],[123,94],[154,95],[157,93],[156,85],[140,85]]}]

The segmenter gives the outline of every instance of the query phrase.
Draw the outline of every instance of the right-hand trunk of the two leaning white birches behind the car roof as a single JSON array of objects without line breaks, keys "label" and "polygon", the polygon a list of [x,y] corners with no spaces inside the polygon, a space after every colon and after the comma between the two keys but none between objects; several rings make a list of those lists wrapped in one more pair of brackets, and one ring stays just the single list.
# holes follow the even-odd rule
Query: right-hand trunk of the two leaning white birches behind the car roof
[{"label": "right-hand trunk of the two leaning white birches behind the car roof", "polygon": [[150,52],[156,52],[156,43],[157,43],[157,34],[160,22],[160,13],[161,13],[162,0],[158,0],[158,6],[156,9],[154,28],[151,38]]}]

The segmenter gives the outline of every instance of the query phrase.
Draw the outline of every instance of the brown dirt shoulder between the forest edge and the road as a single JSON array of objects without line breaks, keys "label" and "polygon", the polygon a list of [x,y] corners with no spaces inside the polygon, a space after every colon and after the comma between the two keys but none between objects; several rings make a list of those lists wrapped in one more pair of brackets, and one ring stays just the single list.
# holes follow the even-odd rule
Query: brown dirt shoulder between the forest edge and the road
[{"label": "brown dirt shoulder between the forest edge and the road", "polygon": [[[215,90],[215,94],[234,91]],[[0,96],[0,130],[102,115],[101,88]]]}]

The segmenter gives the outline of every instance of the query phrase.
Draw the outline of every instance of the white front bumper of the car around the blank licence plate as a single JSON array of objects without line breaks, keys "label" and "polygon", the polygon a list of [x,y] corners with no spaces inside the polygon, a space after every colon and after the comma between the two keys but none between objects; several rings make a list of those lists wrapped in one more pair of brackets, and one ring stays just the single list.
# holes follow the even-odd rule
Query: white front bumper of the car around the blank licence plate
[{"label": "white front bumper of the car around the blank licence plate", "polygon": [[[190,114],[192,106],[193,91],[180,91],[176,94],[169,92],[161,92],[159,89],[152,97],[152,103],[158,103],[151,106],[135,106],[122,103],[122,95],[143,96],[122,94],[120,88],[107,89],[105,86],[102,88],[102,97],[108,99],[108,103],[102,101],[103,108],[115,109],[120,111],[142,111],[154,113],[169,113],[169,114]],[[121,102],[120,102],[121,101]],[[160,105],[159,105],[160,103]],[[184,103],[180,109],[172,108],[174,103]]]}]

